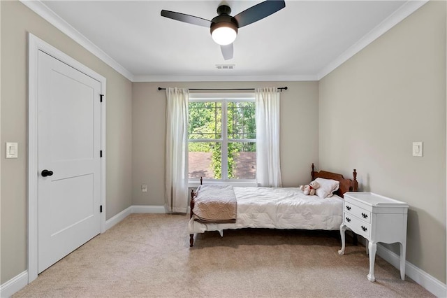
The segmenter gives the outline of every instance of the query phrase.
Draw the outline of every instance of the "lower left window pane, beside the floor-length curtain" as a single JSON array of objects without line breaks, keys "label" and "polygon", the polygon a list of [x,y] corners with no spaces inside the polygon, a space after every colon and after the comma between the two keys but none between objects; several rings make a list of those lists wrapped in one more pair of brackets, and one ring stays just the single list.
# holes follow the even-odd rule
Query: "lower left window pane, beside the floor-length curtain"
[{"label": "lower left window pane, beside the floor-length curtain", "polygon": [[221,143],[189,142],[188,147],[188,178],[221,178]]}]

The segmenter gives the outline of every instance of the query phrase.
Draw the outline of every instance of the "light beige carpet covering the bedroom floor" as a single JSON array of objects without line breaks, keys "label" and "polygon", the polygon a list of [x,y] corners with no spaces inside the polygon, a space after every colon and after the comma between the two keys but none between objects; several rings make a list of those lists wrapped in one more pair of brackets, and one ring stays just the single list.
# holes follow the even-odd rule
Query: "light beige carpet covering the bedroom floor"
[{"label": "light beige carpet covering the bedroom floor", "polygon": [[[337,232],[240,229],[196,235],[187,215],[132,214],[13,297],[433,297]],[[348,239],[349,240],[349,239]]]}]

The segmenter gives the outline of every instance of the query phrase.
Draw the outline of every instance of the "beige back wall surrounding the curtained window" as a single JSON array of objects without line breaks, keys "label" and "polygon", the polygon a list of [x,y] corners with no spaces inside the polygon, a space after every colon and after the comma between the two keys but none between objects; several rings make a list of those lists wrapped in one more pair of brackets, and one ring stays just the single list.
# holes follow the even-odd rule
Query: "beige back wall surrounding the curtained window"
[{"label": "beige back wall surrounding the curtained window", "polygon": [[[133,204],[164,204],[166,93],[157,87],[287,86],[281,92],[281,173],[284,186],[309,183],[318,162],[317,82],[133,83]],[[141,192],[147,183],[149,192]]]}]

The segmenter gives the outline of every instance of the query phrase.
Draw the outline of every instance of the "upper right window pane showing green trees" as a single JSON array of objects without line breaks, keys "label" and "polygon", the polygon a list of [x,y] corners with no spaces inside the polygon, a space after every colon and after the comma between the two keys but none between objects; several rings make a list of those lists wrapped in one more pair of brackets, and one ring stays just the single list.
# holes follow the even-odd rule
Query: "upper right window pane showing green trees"
[{"label": "upper right window pane showing green trees", "polygon": [[228,139],[256,139],[254,101],[228,102]]}]

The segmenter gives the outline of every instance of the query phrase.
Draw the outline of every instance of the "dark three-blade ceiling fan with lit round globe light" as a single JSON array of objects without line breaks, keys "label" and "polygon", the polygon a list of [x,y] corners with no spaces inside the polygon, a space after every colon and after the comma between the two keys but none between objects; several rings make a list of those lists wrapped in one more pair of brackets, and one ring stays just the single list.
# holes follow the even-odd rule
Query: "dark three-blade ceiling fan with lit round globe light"
[{"label": "dark three-blade ceiling fan with lit round globe light", "polygon": [[262,20],[264,17],[276,13],[284,7],[286,7],[285,1],[268,0],[251,6],[234,17],[230,15],[230,6],[225,4],[217,8],[218,15],[212,20],[206,20],[194,15],[185,15],[184,13],[176,13],[170,10],[161,10],[161,16],[180,22],[209,27],[212,39],[221,45],[223,59],[228,60],[233,58],[233,41],[235,41],[239,28]]}]

